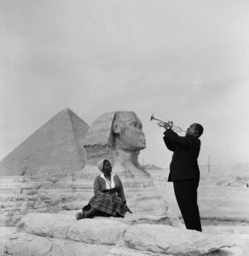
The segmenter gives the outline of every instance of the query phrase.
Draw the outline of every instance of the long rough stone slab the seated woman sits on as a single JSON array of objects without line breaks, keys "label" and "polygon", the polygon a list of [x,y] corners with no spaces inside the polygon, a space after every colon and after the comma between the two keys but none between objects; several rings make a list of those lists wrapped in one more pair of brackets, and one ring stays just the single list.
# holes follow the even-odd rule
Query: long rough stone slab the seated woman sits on
[{"label": "long rough stone slab the seated woman sits on", "polygon": [[122,242],[127,228],[127,224],[109,218],[76,220],[66,214],[53,213],[28,213],[19,225],[19,230],[38,236],[106,245]]}]

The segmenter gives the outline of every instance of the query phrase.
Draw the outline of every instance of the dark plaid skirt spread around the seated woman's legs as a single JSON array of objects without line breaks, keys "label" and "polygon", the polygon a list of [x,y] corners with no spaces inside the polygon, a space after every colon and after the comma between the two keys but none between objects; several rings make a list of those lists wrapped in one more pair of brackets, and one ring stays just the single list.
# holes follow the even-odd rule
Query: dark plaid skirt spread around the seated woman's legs
[{"label": "dark plaid skirt spread around the seated woman's legs", "polygon": [[[94,195],[89,204],[83,207],[82,211],[88,211],[90,208],[95,208],[96,210],[106,213],[104,216],[114,216],[114,217],[125,217],[125,207],[121,198],[116,194]],[[98,214],[96,214],[98,215]],[[101,214],[100,214],[101,215]]]}]

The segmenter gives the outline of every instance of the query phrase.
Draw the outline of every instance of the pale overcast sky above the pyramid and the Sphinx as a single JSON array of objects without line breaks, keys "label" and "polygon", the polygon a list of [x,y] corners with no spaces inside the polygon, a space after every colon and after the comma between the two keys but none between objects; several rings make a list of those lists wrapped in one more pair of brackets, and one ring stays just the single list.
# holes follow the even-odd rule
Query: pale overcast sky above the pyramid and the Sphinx
[{"label": "pale overcast sky above the pyramid and the Sphinx", "polygon": [[204,126],[201,165],[249,162],[248,1],[0,0],[0,33],[0,159],[70,108],[136,112],[145,164],[171,160],[151,113]]}]

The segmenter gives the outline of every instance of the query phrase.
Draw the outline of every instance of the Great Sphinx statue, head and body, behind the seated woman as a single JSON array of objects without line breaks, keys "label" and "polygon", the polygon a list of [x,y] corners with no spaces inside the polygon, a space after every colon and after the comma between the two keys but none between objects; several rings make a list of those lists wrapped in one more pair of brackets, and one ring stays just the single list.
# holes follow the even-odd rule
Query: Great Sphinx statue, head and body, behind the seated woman
[{"label": "Great Sphinx statue, head and body, behind the seated woman", "polygon": [[113,173],[118,174],[124,184],[125,195],[133,212],[169,216],[167,203],[159,195],[153,179],[138,162],[140,150],[144,148],[145,135],[136,113],[104,113],[95,119],[84,137],[87,160],[82,173],[87,172],[88,177],[93,179],[99,174],[98,160],[110,160]]}]

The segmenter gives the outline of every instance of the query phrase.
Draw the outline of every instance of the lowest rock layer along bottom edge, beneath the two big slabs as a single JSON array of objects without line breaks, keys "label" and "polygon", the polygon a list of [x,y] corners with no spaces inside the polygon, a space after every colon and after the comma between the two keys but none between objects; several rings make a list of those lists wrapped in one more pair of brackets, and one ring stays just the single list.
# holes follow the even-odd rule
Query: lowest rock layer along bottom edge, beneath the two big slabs
[{"label": "lowest rock layer along bottom edge, beneath the two big slabs", "polygon": [[[233,237],[233,236],[232,236]],[[244,251],[243,251],[244,248]],[[202,254],[208,256],[246,256],[248,247],[227,250],[226,248],[220,251]],[[1,248],[2,249],[2,248]],[[35,236],[26,233],[15,233],[9,241],[6,242],[0,255],[21,255],[21,256],[162,256],[162,255],[184,255],[170,253],[153,253],[148,251],[136,250],[125,246],[107,246],[97,245],[94,243],[84,243],[77,241],[68,241],[57,238],[44,236]],[[190,254],[194,255],[194,254]]]}]

